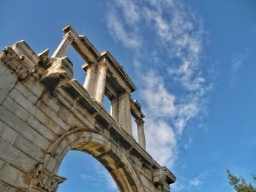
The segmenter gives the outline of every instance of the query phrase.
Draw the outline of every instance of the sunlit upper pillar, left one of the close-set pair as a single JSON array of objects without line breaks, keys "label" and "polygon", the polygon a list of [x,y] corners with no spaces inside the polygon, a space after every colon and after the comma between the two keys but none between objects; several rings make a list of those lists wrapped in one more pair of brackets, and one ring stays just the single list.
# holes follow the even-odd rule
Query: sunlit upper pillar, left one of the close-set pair
[{"label": "sunlit upper pillar, left one of the close-set pair", "polygon": [[83,84],[83,87],[86,88],[86,91],[92,96],[94,91],[94,81],[96,77],[97,67],[95,64],[91,64],[86,69],[86,80]]}]

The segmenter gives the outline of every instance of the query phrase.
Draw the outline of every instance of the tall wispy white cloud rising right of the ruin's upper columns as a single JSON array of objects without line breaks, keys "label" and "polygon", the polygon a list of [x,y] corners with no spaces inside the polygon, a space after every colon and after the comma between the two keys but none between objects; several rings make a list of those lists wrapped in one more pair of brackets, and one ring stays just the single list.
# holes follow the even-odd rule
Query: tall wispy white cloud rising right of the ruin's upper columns
[{"label": "tall wispy white cloud rising right of the ruin's upper columns", "polygon": [[205,112],[211,88],[201,62],[203,22],[182,1],[113,2],[106,22],[113,39],[135,50],[147,150],[173,166],[176,143],[189,120]]}]

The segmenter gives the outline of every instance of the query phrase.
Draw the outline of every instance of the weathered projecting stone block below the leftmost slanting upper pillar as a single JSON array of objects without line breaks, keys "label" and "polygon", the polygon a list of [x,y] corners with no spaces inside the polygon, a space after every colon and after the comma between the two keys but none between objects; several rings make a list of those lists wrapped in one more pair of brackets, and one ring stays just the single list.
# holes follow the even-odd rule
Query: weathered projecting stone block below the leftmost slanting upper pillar
[{"label": "weathered projecting stone block below the leftmost slanting upper pillar", "polygon": [[73,77],[73,64],[69,58],[52,58],[53,64],[42,74],[41,80],[50,91],[61,87]]}]

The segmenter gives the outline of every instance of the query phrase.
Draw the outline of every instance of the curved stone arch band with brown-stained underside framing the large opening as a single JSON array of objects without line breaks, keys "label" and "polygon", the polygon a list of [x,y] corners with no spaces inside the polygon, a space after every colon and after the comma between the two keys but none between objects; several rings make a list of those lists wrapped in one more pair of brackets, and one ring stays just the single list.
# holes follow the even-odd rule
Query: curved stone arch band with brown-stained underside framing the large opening
[{"label": "curved stone arch band with brown-stained underside framing the large opening", "polygon": [[61,136],[49,149],[43,165],[57,174],[69,150],[79,150],[94,156],[113,177],[119,191],[144,191],[140,177],[124,150],[111,139],[91,128],[74,128]]}]

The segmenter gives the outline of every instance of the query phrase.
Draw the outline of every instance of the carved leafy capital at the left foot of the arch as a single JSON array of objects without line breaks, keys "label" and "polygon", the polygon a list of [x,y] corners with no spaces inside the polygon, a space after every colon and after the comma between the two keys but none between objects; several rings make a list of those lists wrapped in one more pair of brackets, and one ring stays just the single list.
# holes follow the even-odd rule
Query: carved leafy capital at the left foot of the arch
[{"label": "carved leafy capital at the left foot of the arch", "polygon": [[64,180],[67,179],[49,172],[45,166],[39,164],[34,175],[32,192],[56,192],[59,184],[63,183]]}]

